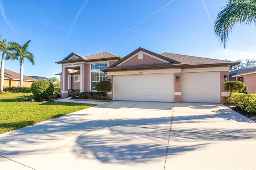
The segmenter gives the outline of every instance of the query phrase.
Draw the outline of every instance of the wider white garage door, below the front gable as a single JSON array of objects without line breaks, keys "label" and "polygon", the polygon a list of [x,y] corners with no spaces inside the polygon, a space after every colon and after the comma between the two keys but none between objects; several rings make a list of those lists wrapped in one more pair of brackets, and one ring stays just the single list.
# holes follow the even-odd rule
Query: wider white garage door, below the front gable
[{"label": "wider white garage door, below the front gable", "polygon": [[115,75],[114,100],[174,102],[174,74]]}]

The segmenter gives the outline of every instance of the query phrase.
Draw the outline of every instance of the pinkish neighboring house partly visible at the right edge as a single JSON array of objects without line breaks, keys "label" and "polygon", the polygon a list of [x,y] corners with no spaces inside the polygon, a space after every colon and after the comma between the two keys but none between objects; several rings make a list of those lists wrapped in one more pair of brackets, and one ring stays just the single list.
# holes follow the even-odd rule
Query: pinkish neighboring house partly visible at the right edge
[{"label": "pinkish neighboring house partly visible at the right edge", "polygon": [[256,93],[256,67],[240,69],[239,73],[232,77],[237,81],[244,82],[248,86],[248,93]]}]

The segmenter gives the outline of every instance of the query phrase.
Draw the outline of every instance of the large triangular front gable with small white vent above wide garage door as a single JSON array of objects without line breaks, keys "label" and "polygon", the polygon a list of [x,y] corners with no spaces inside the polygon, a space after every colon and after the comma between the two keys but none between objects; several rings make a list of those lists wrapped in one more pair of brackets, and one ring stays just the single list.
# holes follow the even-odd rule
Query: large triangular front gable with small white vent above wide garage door
[{"label": "large triangular front gable with small white vent above wide garage door", "polygon": [[126,55],[109,68],[118,66],[128,66],[128,65],[149,65],[149,64],[160,64],[160,63],[180,63],[173,59],[164,57],[152,51],[148,51],[144,48],[139,47],[135,51]]}]

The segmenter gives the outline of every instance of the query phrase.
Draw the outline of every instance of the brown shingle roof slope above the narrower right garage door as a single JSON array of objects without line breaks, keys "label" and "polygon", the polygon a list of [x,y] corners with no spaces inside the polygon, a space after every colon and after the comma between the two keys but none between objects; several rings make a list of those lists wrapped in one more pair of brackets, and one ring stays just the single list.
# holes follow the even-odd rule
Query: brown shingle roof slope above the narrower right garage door
[{"label": "brown shingle roof slope above the narrower right garage door", "polygon": [[179,61],[183,64],[188,65],[203,65],[203,64],[232,64],[233,61],[226,61],[221,59],[211,59],[211,58],[204,58],[204,57],[195,57],[190,55],[180,55],[180,54],[174,54],[174,53],[161,53],[160,55],[163,55],[165,57],[168,57],[170,59]]}]

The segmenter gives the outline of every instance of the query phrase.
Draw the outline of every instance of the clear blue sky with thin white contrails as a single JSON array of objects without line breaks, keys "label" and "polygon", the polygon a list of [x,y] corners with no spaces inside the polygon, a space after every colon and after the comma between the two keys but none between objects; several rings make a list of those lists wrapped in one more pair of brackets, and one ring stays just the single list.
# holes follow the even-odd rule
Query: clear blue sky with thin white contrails
[{"label": "clear blue sky with thin white contrails", "polygon": [[[138,47],[215,59],[256,59],[256,27],[236,25],[224,49],[214,20],[226,0],[0,0],[0,35],[31,40],[24,75],[58,77],[71,52],[125,56]],[[19,61],[5,68],[20,72]],[[59,78],[59,77],[58,77]]]}]

